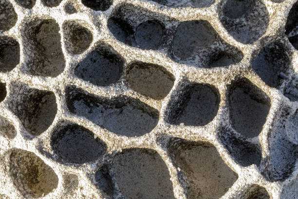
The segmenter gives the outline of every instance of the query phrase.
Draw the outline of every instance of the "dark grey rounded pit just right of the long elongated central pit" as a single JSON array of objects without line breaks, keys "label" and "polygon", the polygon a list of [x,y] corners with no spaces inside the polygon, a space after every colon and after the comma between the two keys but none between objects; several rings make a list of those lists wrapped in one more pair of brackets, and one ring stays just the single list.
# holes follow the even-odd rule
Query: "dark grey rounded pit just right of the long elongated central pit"
[{"label": "dark grey rounded pit just right of the long elongated central pit", "polygon": [[186,85],[178,101],[172,101],[168,122],[191,126],[204,126],[214,119],[219,108],[220,94],[209,84]]}]

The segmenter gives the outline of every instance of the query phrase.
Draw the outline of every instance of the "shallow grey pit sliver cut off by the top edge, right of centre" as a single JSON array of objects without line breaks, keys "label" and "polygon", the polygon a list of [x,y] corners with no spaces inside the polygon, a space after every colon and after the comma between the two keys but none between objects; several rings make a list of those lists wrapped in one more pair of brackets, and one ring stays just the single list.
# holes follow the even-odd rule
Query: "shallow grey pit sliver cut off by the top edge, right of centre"
[{"label": "shallow grey pit sliver cut off by the top edge, right of centre", "polygon": [[215,0],[152,0],[161,5],[168,7],[193,7],[193,8],[204,8],[209,7],[214,3]]}]

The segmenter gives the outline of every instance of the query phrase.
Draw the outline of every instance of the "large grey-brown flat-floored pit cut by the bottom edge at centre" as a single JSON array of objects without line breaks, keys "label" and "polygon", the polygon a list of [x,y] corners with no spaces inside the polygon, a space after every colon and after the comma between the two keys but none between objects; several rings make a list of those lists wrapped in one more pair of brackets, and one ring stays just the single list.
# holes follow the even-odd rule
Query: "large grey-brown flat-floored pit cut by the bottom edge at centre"
[{"label": "large grey-brown flat-floored pit cut by the bottom edge at centre", "polygon": [[125,149],[111,167],[121,194],[126,199],[174,199],[168,167],[151,149]]}]

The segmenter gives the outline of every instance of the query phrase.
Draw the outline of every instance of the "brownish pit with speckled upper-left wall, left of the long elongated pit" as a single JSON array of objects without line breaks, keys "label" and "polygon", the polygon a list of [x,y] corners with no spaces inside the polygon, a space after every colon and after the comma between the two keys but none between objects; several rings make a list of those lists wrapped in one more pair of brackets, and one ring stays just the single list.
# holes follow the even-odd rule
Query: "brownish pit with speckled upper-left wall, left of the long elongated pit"
[{"label": "brownish pit with speckled upper-left wall, left of the long elongated pit", "polygon": [[38,90],[27,85],[19,86],[17,98],[10,103],[10,109],[19,117],[26,131],[38,136],[53,123],[57,104],[51,91]]}]

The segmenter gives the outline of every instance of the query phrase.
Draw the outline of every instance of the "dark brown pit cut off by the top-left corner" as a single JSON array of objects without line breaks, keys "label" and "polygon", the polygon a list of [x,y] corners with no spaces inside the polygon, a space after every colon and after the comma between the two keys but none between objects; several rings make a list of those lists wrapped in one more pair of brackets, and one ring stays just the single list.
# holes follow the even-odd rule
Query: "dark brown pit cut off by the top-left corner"
[{"label": "dark brown pit cut off by the top-left corner", "polygon": [[0,1],[0,13],[0,31],[9,30],[16,24],[18,15],[9,0]]}]

